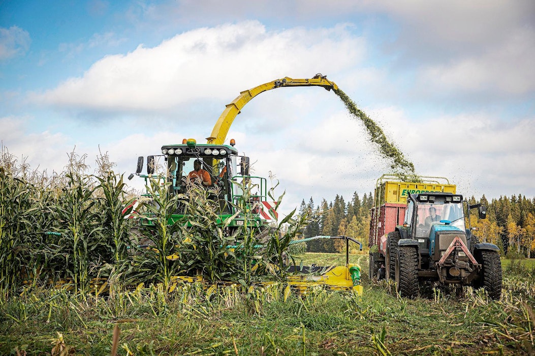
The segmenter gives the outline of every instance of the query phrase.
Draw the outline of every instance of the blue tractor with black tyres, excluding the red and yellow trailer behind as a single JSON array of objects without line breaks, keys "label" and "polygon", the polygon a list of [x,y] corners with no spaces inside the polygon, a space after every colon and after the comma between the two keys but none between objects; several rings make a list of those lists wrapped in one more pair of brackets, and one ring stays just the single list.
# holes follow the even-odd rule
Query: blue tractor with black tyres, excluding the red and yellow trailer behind
[{"label": "blue tractor with black tyres, excluding the red and yellow trailer behind", "polygon": [[472,234],[472,209],[486,218],[484,206],[469,205],[459,194],[409,194],[404,224],[388,233],[386,241],[385,276],[395,281],[401,296],[415,297],[421,284],[437,281],[461,292],[463,286],[484,288],[500,299],[500,249]]}]

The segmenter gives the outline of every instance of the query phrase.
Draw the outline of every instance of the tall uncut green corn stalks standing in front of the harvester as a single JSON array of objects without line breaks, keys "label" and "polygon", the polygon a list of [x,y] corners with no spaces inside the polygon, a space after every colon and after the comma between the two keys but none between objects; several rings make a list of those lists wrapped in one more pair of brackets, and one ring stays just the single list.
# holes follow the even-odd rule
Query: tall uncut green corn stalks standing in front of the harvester
[{"label": "tall uncut green corn stalks standing in front of the harvester", "polygon": [[[246,224],[230,236],[225,233],[233,217],[217,223],[218,203],[210,200],[207,189],[192,186],[187,196],[171,195],[169,184],[151,179],[151,198],[142,199],[141,211],[148,213],[152,227],[140,228],[123,211],[137,194],[127,191],[109,157],[97,157],[93,175],[87,173],[86,156],[73,152],[69,157],[64,172],[47,177],[17,163],[3,148],[0,289],[20,292],[59,283],[85,292],[95,284],[113,288],[141,282],[163,283],[168,289],[176,275],[242,284],[280,280],[285,267],[270,268],[268,275],[268,266],[281,261],[289,241],[307,223],[292,212],[270,230],[266,248],[258,250],[257,228]],[[251,188],[242,187],[243,199]],[[179,203],[186,205],[186,219],[172,223],[173,207]],[[243,201],[235,207],[241,216],[251,215]],[[141,240],[148,246],[140,245]]]}]

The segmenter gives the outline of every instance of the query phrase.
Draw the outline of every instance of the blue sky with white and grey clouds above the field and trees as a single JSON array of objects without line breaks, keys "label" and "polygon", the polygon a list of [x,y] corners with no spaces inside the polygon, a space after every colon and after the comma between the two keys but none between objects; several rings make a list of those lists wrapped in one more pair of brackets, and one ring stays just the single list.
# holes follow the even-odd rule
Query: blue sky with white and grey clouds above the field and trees
[{"label": "blue sky with white and grey clouds above the field and trees", "polygon": [[[241,91],[321,73],[419,175],[532,199],[534,63],[532,0],[0,0],[0,140],[49,174],[73,150],[95,169],[100,150],[128,176],[137,156],[205,142]],[[319,87],[259,94],[231,138],[285,209],[362,197],[391,172]]]}]

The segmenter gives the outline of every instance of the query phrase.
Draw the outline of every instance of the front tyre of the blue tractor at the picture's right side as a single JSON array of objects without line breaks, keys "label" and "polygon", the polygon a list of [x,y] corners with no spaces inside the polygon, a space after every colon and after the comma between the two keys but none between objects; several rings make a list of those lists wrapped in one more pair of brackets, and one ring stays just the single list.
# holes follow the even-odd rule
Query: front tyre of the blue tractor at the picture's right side
[{"label": "front tyre of the blue tractor at the picture's right side", "polygon": [[498,300],[501,297],[502,270],[500,255],[497,251],[478,251],[476,260],[482,266],[476,287],[487,290],[488,296]]}]

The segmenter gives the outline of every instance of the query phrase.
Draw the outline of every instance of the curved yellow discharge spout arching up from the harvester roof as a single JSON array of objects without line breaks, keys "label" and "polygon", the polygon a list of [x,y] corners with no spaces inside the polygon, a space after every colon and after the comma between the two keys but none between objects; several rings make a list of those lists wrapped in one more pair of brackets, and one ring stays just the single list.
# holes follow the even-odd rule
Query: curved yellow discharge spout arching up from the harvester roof
[{"label": "curved yellow discharge spout arching up from the harvester roof", "polygon": [[338,89],[338,85],[328,81],[327,76],[318,73],[310,79],[292,79],[284,77],[282,79],[258,85],[253,89],[242,91],[236,99],[230,104],[227,104],[224,112],[219,116],[216,125],[213,126],[210,137],[207,138],[208,143],[223,145],[225,138],[227,137],[228,129],[230,129],[234,118],[251,99],[264,91],[282,88],[283,86],[322,86],[326,90]]}]

